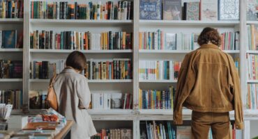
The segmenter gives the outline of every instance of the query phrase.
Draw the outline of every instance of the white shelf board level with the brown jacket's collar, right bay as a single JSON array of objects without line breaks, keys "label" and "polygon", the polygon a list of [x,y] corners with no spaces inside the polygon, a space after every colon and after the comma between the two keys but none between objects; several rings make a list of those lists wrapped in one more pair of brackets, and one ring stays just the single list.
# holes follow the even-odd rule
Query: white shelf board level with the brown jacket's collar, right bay
[{"label": "white shelf board level with the brown jacket's collar, right bay", "polygon": [[[192,50],[144,50],[140,49],[139,54],[188,54]],[[223,50],[227,54],[238,54],[239,50]]]}]

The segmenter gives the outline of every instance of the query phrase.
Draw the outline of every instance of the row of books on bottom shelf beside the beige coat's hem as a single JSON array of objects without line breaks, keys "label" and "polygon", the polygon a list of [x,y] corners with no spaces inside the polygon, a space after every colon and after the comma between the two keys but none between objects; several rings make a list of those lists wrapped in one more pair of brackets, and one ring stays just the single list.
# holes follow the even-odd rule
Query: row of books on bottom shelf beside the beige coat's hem
[{"label": "row of books on bottom shelf beside the beige coat's hem", "polygon": [[132,139],[132,129],[101,129],[91,139]]}]

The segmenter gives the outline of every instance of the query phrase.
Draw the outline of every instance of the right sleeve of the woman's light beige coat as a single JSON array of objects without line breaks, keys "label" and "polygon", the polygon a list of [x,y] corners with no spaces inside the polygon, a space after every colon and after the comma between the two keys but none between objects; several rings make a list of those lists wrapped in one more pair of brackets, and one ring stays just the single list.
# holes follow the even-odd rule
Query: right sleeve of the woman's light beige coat
[{"label": "right sleeve of the woman's light beige coat", "polygon": [[79,108],[89,108],[91,92],[86,78],[79,80],[77,83],[77,96],[79,98]]}]

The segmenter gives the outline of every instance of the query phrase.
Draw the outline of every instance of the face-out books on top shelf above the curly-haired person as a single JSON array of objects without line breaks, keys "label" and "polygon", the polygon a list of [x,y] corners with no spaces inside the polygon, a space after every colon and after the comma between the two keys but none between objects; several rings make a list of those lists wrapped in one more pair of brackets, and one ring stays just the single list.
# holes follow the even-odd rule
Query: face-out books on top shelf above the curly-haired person
[{"label": "face-out books on top shelf above the curly-haired person", "polygon": [[140,0],[140,19],[164,20],[239,20],[239,0]]}]

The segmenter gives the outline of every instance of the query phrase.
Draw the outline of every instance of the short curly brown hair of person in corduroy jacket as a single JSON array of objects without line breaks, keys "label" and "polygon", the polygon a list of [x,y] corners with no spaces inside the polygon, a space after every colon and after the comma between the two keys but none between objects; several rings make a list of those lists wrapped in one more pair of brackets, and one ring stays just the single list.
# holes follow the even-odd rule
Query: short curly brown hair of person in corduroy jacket
[{"label": "short curly brown hair of person in corduroy jacket", "polygon": [[211,42],[218,47],[221,44],[221,38],[220,33],[218,33],[217,29],[206,27],[204,30],[202,30],[202,33],[199,35],[198,44],[201,46],[202,44],[208,44],[208,42]]}]

